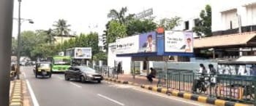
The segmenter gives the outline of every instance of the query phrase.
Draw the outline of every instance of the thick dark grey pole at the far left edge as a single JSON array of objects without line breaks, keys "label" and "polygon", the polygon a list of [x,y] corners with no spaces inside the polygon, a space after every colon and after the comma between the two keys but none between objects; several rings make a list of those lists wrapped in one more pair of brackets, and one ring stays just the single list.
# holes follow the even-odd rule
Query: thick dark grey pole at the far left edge
[{"label": "thick dark grey pole at the far left edge", "polygon": [[0,105],[9,106],[13,0],[0,0]]}]

